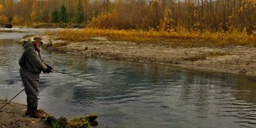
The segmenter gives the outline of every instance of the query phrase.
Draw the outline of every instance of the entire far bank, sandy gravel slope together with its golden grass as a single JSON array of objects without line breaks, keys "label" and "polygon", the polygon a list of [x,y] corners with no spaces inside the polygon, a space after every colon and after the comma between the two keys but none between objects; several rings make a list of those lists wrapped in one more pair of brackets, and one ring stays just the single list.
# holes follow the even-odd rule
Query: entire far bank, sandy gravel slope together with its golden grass
[{"label": "entire far bank, sandy gravel slope together with its golden grass", "polygon": [[[138,34],[142,38],[139,38]],[[236,34],[168,35],[161,32],[88,28],[47,32],[48,36],[45,38],[51,40],[47,49],[64,53],[143,63],[160,63],[188,69],[255,77],[255,35]],[[226,37],[222,37],[225,35]],[[150,36],[152,37],[150,38]]]}]

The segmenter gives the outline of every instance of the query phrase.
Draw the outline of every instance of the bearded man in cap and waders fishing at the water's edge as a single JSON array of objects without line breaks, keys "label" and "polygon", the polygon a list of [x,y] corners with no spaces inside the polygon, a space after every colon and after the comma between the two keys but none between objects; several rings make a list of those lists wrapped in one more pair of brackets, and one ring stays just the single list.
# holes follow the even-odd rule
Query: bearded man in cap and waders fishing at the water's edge
[{"label": "bearded man in cap and waders fishing at the water's edge", "polygon": [[38,112],[38,85],[40,73],[42,71],[43,73],[52,73],[53,68],[50,67],[40,55],[43,44],[45,44],[45,42],[41,36],[35,36],[32,42],[26,42],[18,64],[20,65],[20,77],[26,92],[26,115],[45,119],[46,116]]}]

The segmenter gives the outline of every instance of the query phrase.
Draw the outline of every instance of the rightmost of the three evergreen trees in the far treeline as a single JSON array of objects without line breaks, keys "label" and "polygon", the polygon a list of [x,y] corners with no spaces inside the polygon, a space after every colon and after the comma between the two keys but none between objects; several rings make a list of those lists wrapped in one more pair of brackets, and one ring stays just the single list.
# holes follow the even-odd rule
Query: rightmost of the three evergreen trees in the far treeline
[{"label": "rightmost of the three evergreen trees in the far treeline", "polygon": [[79,0],[79,2],[77,3],[77,9],[76,9],[75,15],[74,15],[74,22],[81,23],[84,21],[84,11],[82,8],[83,8],[82,1]]}]

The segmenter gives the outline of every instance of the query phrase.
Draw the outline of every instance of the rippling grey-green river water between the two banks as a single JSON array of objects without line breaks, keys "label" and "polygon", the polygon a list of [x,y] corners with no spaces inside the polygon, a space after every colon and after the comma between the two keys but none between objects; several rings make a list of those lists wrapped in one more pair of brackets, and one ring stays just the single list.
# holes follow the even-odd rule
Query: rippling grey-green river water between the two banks
[{"label": "rippling grey-green river water between the two banks", "polygon": [[[10,100],[23,88],[18,73],[22,47],[13,39],[24,34],[0,34],[1,99]],[[55,117],[97,113],[98,127],[256,127],[251,77],[54,51],[42,56],[56,71],[129,90],[63,73],[42,74],[39,106]],[[14,101],[26,104],[24,92]]]}]

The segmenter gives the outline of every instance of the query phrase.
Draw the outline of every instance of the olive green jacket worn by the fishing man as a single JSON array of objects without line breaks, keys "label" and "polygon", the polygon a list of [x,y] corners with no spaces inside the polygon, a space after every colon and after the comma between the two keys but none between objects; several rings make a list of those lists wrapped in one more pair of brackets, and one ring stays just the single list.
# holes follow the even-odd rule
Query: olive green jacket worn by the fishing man
[{"label": "olive green jacket worn by the fishing man", "polygon": [[46,62],[42,59],[40,53],[36,51],[32,42],[24,44],[24,51],[18,60],[20,67],[39,74],[47,69]]}]

